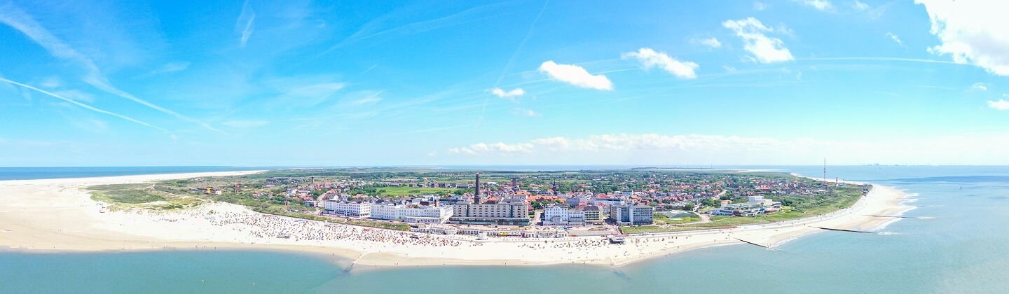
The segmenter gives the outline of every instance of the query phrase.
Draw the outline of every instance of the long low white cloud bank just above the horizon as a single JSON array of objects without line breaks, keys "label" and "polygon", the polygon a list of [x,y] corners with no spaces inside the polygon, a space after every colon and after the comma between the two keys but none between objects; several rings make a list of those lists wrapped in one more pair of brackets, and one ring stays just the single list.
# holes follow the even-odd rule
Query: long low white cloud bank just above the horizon
[{"label": "long low white cloud bank just above the horizon", "polygon": [[[1004,102],[1009,109],[1009,102]],[[929,148],[915,148],[929,146]],[[474,164],[1007,164],[1009,134],[832,140],[724,135],[610,134],[549,137],[450,148],[446,160]],[[996,161],[992,161],[995,159]]]}]

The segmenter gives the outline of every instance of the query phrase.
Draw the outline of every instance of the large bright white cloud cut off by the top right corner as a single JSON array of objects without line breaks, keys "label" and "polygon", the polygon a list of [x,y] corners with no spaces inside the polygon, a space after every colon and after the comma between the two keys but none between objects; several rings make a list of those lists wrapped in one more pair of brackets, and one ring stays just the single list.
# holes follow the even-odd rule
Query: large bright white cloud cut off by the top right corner
[{"label": "large bright white cloud cut off by the top right corner", "polygon": [[949,54],[954,61],[975,63],[998,76],[1009,76],[1009,17],[1001,4],[985,1],[915,0],[931,19],[931,33],[941,44],[928,50]]}]

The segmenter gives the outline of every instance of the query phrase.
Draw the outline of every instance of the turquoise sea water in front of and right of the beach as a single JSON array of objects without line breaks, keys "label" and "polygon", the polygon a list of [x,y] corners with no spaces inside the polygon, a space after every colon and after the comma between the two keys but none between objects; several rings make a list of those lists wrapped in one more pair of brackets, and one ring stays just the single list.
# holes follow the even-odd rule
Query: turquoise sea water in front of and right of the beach
[{"label": "turquoise sea water in front of and right of the beach", "polygon": [[[712,168],[822,176],[820,166]],[[0,293],[1004,293],[1009,289],[1005,279],[1009,167],[828,166],[827,177],[913,193],[916,200],[911,204],[918,207],[904,215],[917,218],[893,223],[878,234],[817,233],[782,244],[778,251],[722,246],[615,269],[350,267],[349,261],[329,256],[258,251],[0,251]]]}]

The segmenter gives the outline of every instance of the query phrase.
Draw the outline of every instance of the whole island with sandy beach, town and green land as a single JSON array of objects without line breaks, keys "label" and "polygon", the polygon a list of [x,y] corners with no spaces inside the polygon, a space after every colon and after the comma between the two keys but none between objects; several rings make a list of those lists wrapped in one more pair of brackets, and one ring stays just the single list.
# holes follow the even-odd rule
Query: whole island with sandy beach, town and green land
[{"label": "whole island with sandy beach, town and green land", "polygon": [[[270,249],[355,264],[619,266],[728,244],[870,232],[896,189],[775,172],[326,168],[0,182],[23,250]],[[66,204],[32,213],[32,204]],[[44,215],[42,217],[41,215]],[[26,222],[32,219],[34,222]]]}]

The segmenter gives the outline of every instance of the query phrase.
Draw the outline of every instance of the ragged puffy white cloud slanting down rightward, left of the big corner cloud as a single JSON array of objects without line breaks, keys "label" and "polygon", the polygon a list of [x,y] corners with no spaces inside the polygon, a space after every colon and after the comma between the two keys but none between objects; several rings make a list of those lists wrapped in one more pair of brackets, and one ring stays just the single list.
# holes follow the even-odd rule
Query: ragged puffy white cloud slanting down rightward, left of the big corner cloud
[{"label": "ragged puffy white cloud slanting down rightward, left of the big corner cloud", "polygon": [[747,44],[744,46],[744,49],[754,55],[751,58],[755,61],[771,63],[794,59],[792,52],[785,47],[781,39],[769,37],[764,34],[764,32],[773,32],[774,29],[764,26],[756,18],[725,20],[721,25],[732,29],[736,32],[736,35],[746,41]]}]

